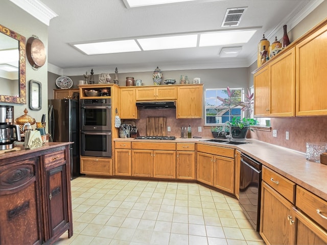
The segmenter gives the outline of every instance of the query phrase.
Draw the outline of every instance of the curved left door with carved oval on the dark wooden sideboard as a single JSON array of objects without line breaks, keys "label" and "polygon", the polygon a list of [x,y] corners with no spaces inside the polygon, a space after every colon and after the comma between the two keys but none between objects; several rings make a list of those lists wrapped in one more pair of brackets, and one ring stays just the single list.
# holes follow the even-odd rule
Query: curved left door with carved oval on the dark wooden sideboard
[{"label": "curved left door with carved oval on the dark wooden sideboard", "polygon": [[39,159],[0,166],[0,244],[43,243]]}]

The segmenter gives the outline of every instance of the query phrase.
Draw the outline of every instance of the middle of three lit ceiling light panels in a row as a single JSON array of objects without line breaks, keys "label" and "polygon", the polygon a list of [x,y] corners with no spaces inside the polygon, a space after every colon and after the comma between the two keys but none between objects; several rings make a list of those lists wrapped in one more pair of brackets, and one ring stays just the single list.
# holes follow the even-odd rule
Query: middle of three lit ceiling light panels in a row
[{"label": "middle of three lit ceiling light panels in a row", "polygon": [[196,47],[198,40],[197,34],[169,36],[169,37],[152,37],[137,39],[144,51],[149,50],[169,50],[173,48]]}]

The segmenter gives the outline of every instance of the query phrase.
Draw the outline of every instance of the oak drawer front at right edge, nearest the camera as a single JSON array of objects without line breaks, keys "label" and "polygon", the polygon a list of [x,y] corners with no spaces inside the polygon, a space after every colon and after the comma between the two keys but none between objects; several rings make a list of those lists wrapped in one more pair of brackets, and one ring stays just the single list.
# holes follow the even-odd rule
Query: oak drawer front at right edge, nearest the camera
[{"label": "oak drawer front at right edge, nearest the camera", "polygon": [[295,206],[325,230],[327,229],[327,202],[325,200],[300,186],[296,186]]}]

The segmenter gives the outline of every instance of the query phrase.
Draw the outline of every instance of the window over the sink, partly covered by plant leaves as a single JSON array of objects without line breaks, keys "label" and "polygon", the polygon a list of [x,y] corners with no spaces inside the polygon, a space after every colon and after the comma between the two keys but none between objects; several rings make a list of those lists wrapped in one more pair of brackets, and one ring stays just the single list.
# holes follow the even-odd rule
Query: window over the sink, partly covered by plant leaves
[{"label": "window over the sink, partly covered by plant leaves", "polygon": [[220,88],[205,90],[205,125],[214,126],[230,121],[233,116],[243,117],[243,88]]}]

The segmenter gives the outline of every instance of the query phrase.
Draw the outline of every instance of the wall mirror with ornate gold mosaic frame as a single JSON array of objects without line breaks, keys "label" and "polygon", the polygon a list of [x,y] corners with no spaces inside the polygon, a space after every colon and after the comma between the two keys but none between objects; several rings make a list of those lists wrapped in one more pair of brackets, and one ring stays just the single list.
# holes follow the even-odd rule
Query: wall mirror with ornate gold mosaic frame
[{"label": "wall mirror with ornate gold mosaic frame", "polygon": [[25,37],[0,24],[0,102],[26,104]]}]

